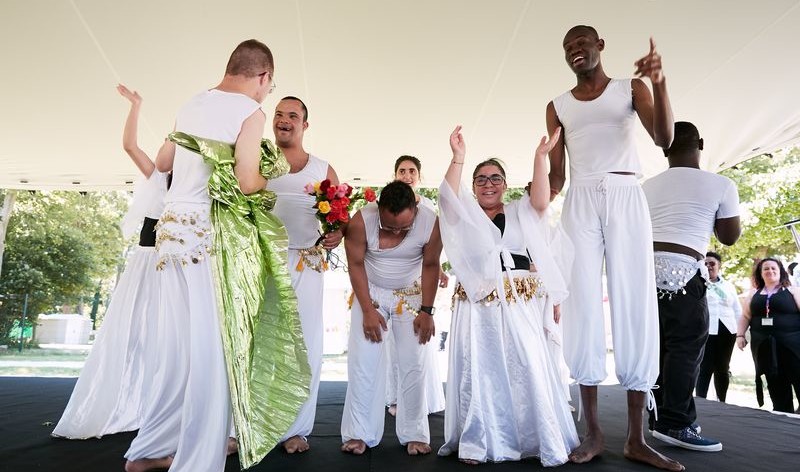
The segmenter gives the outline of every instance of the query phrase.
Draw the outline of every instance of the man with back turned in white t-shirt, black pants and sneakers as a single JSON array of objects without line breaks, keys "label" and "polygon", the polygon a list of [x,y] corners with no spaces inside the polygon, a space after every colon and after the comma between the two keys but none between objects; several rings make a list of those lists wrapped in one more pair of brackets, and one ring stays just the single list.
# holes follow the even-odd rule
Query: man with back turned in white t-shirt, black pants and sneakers
[{"label": "man with back turned in white t-shirt, black pants and sneakers", "polygon": [[653,250],[661,331],[661,357],[654,391],[658,419],[653,437],[695,451],[721,451],[719,441],[700,436],[692,391],[708,338],[704,254],[711,234],[725,245],[739,239],[739,195],[727,177],[700,170],[703,140],[697,128],[675,123],[664,151],[669,169],[643,189],[653,224]]}]

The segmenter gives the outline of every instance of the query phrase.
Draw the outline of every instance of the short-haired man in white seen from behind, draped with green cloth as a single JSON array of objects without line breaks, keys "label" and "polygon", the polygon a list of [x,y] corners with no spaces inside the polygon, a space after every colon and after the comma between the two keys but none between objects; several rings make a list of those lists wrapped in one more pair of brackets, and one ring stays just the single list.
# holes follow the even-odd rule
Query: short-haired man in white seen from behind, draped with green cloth
[{"label": "short-haired man in white seen from behind, draped with green cloth", "polygon": [[[241,43],[222,82],[193,97],[178,113],[177,131],[235,143],[234,167],[245,194],[263,189],[259,173],[266,116],[260,103],[273,86],[272,53],[264,44]],[[139,434],[125,470],[221,471],[225,467],[231,403],[209,248],[213,228],[208,178],[197,154],[167,141],[157,168],[174,170],[158,225],[158,390],[148,396]]]}]

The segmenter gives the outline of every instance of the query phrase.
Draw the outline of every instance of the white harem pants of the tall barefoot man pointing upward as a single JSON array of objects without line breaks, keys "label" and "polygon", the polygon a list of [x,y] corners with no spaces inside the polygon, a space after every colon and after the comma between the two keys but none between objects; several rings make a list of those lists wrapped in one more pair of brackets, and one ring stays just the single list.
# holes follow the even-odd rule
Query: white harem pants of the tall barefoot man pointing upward
[{"label": "white harem pants of the tall barefoot man pointing upward", "polygon": [[606,174],[570,183],[562,224],[575,245],[570,296],[562,307],[564,357],[580,385],[607,376],[602,273],[605,259],[619,383],[646,392],[658,377],[658,305],[653,232],[635,176]]}]

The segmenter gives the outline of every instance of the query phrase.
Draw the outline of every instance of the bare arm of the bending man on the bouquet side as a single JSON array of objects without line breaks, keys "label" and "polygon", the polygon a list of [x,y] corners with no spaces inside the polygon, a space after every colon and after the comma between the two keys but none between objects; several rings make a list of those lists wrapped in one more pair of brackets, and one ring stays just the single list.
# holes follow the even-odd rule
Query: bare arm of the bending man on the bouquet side
[{"label": "bare arm of the bending man on the bouquet side", "polygon": [[[350,285],[353,287],[355,300],[361,307],[364,314],[363,326],[364,337],[368,340],[379,343],[383,339],[382,331],[386,331],[386,319],[378,313],[372,305],[372,297],[369,294],[369,283],[367,281],[367,269],[364,266],[364,256],[367,254],[367,232],[364,227],[364,218],[361,211],[357,211],[347,225],[347,238],[344,240],[344,250],[347,254],[347,269],[350,274]],[[358,326],[351,326],[350,329],[358,329]]]}]

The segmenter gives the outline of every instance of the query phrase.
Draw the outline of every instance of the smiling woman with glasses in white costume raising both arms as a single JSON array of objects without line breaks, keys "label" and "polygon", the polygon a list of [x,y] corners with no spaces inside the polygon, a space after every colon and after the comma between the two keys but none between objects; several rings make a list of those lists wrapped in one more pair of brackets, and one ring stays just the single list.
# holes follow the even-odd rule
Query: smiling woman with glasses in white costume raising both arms
[{"label": "smiling woman with glasses in white costume raising both arms", "polygon": [[469,464],[536,456],[556,466],[578,445],[536,300],[542,291],[556,304],[567,295],[541,231],[549,204],[547,152],[558,134],[536,148],[530,198],[509,204],[503,204],[505,170],[496,159],[478,164],[471,191],[461,184],[461,127],[450,135],[453,159],[439,188],[439,209],[459,286],[439,455],[457,452]]}]

